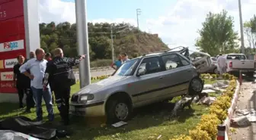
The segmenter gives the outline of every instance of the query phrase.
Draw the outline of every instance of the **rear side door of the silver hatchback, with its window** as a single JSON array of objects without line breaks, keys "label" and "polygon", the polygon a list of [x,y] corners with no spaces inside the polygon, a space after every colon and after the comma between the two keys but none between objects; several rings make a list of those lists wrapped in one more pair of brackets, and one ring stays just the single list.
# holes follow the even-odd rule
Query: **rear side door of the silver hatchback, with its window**
[{"label": "rear side door of the silver hatchback, with its window", "polygon": [[190,61],[177,53],[165,54],[161,58],[165,65],[164,95],[175,96],[187,93],[190,79],[193,77]]}]

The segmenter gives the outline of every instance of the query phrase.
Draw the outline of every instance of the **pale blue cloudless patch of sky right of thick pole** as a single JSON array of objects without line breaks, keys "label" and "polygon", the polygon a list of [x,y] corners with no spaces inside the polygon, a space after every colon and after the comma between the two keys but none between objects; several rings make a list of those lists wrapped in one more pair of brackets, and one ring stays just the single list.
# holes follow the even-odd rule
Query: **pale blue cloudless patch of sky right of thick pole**
[{"label": "pale blue cloudless patch of sky right of thick pole", "polygon": [[[62,0],[75,2],[75,0]],[[176,0],[87,0],[88,20],[99,18],[136,18],[136,8],[142,10],[141,18],[157,18],[174,5]],[[142,20],[142,19],[141,19]]]}]

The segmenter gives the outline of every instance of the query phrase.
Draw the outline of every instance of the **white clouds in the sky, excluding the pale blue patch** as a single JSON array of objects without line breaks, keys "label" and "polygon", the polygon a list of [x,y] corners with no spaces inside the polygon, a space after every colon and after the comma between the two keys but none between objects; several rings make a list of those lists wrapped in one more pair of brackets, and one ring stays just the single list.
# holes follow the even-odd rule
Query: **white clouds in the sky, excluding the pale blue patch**
[{"label": "white clouds in the sky, excluding the pale blue patch", "polygon": [[[255,0],[242,0],[243,21],[249,20],[255,14]],[[162,39],[174,45],[193,46],[199,37],[197,30],[201,28],[206,14],[220,12],[226,9],[234,17],[235,30],[240,33],[238,0],[179,0],[165,15],[156,19],[147,19],[142,30],[158,33]],[[146,14],[146,13],[145,13]],[[40,0],[40,21],[62,22],[68,20],[75,23],[75,4],[60,0]],[[136,19],[98,19],[91,22],[120,23],[129,22],[136,25]],[[195,49],[192,47],[192,49]]]}]

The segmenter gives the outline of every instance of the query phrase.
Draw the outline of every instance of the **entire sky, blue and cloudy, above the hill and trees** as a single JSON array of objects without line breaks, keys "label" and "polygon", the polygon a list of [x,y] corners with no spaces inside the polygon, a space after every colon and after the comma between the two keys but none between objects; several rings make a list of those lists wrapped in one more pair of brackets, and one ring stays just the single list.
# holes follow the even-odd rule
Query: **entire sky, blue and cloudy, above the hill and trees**
[{"label": "entire sky, blue and cloudy, above the hill and trees", "polygon": [[[75,23],[74,0],[39,2],[40,22]],[[234,17],[235,31],[240,33],[238,0],[87,0],[88,21],[126,22],[136,26],[136,8],[142,11],[140,30],[157,33],[171,48],[184,45],[195,50],[194,44],[199,37],[197,31],[209,12],[228,11]],[[256,14],[255,8],[256,0],[242,0],[243,21]]]}]

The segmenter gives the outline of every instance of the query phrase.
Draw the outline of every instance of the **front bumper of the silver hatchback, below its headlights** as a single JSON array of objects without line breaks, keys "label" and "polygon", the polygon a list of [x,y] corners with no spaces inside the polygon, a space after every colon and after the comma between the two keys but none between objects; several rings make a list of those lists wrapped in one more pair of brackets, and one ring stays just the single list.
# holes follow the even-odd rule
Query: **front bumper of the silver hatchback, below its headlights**
[{"label": "front bumper of the silver hatchback, below its headlights", "polygon": [[91,104],[70,103],[69,113],[75,116],[83,117],[101,117],[105,115],[104,101],[98,101]]}]

